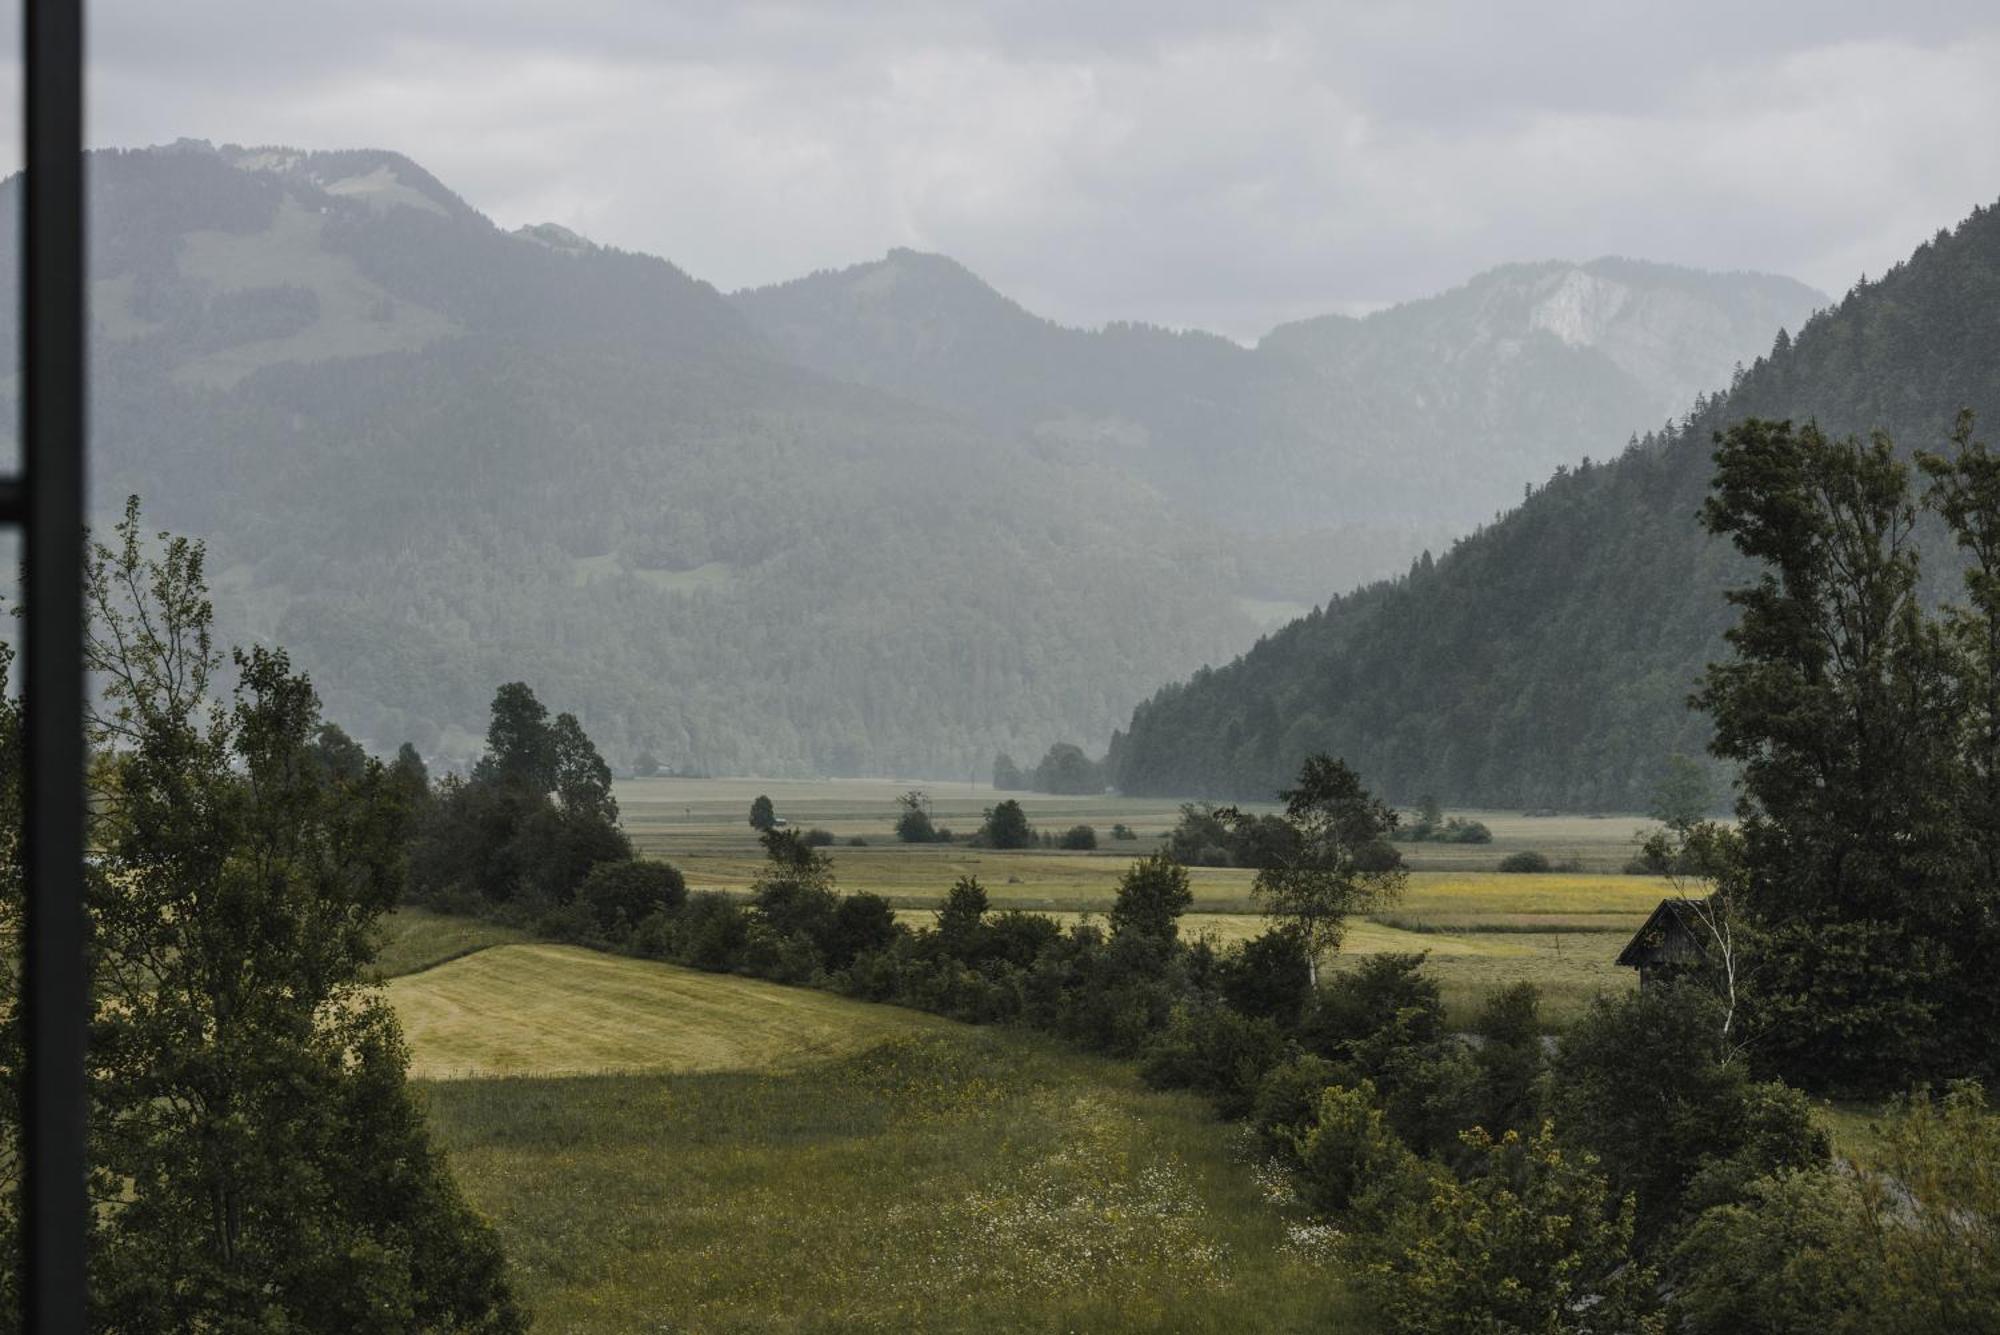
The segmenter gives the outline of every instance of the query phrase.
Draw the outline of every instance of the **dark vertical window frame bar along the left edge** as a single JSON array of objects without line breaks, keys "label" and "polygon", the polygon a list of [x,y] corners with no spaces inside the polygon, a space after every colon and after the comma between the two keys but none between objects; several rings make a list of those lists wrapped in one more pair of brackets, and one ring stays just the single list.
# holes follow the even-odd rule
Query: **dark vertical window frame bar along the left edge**
[{"label": "dark vertical window frame bar along the left edge", "polygon": [[30,1331],[84,1329],[84,6],[24,2],[26,1287]]}]

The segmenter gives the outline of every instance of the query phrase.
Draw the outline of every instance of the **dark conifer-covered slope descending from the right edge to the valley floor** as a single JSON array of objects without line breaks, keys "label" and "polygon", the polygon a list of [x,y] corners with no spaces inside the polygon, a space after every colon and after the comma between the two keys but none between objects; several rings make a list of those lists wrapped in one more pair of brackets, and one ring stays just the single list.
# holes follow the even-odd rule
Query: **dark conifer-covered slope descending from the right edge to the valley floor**
[{"label": "dark conifer-covered slope descending from the right edge to the valley floor", "polygon": [[[1704,745],[1684,701],[1746,574],[1696,522],[1714,434],[1812,418],[1940,448],[1960,408],[2000,430],[1996,208],[1780,338],[1676,430],[1558,470],[1434,566],[1162,689],[1114,739],[1114,773],[1136,793],[1264,797],[1326,749],[1400,799],[1640,809],[1662,759]],[[1950,550],[1926,556],[1950,594]]]}]

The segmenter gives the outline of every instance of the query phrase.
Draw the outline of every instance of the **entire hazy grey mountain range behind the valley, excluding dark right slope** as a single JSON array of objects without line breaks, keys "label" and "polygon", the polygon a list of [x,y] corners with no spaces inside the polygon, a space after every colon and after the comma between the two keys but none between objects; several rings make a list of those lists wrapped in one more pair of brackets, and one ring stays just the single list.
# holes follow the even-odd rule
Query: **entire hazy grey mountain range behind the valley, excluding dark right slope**
[{"label": "entire hazy grey mountain range behind the valley, excluding dark right slope", "polygon": [[226,636],[448,761],[506,679],[686,771],[1102,739],[1818,302],[1512,266],[1252,350],[914,252],[724,296],[390,152],[100,152],[90,192],[98,512],[204,538]]}]

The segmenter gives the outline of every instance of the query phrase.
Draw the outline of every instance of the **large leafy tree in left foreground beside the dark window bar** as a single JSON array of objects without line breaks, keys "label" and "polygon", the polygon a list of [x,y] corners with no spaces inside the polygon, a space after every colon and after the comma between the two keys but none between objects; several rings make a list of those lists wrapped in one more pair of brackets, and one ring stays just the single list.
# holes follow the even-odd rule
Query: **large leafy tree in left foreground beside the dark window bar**
[{"label": "large leafy tree in left foreground beside the dark window bar", "polygon": [[[92,546],[88,606],[104,683],[90,721],[92,1327],[522,1329],[368,981],[406,801],[322,729],[282,652],[238,652],[218,701],[204,552],[162,538],[150,554],[136,502],[116,542]],[[0,733],[14,727],[0,709]],[[0,735],[0,755],[16,753]],[[18,785],[8,765],[8,813]],[[0,877],[10,931],[16,867]],[[6,1075],[12,1087],[18,1065]]]}]

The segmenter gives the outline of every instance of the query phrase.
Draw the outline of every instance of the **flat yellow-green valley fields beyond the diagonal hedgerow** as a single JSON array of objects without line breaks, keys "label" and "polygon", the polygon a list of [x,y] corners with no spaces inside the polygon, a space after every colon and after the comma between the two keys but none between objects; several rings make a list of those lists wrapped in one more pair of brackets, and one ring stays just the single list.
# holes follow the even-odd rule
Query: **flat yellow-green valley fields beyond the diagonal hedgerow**
[{"label": "flat yellow-green valley fields beyond the diagonal hedgerow", "polygon": [[[1094,825],[1096,851],[976,849],[964,843],[908,845],[892,833],[896,797],[922,787],[940,825],[970,833],[994,801],[1016,797],[1038,829]],[[826,853],[842,889],[886,895],[906,921],[928,921],[944,891],[976,875],[996,909],[1046,911],[1066,921],[1110,909],[1118,877],[1134,857],[1156,849],[1180,819],[1180,803],[1128,797],[1052,797],[996,793],[984,785],[926,785],[890,779],[626,779],[618,803],[642,853],[664,857],[694,889],[742,893],[764,865],[750,801],[770,795],[794,827],[828,829],[840,839]],[[1262,807],[1260,807],[1262,809]],[[1542,1013],[1552,1027],[1580,1015],[1590,999],[1636,985],[1630,969],[1612,961],[1646,915],[1672,887],[1646,875],[1624,875],[1632,835],[1644,817],[1520,815],[1466,811],[1486,821],[1492,843],[1404,843],[1410,883],[1404,897],[1368,919],[1350,923],[1340,957],[1330,967],[1382,951],[1430,951],[1454,1023],[1470,1021],[1496,987],[1518,981],[1542,989]],[[1112,841],[1112,823],[1138,839]],[[862,837],[866,847],[846,839]],[[1500,873],[1500,859],[1534,849],[1578,871]],[[1264,929],[1250,893],[1252,871],[1192,867],[1194,909],[1184,933],[1236,941]]]}]

